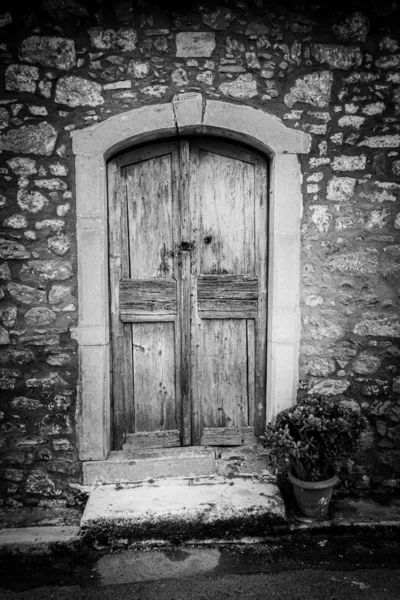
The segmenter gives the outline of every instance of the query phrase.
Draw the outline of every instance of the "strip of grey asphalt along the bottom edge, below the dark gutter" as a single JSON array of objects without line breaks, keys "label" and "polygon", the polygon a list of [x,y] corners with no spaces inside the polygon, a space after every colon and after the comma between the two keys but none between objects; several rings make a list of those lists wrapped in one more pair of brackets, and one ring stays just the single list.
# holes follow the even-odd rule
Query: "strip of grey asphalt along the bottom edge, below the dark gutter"
[{"label": "strip of grey asphalt along the bottom edge, below the dark gutter", "polygon": [[208,575],[86,589],[0,590],[0,595],[2,600],[399,600],[400,569]]}]

